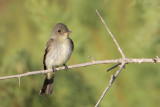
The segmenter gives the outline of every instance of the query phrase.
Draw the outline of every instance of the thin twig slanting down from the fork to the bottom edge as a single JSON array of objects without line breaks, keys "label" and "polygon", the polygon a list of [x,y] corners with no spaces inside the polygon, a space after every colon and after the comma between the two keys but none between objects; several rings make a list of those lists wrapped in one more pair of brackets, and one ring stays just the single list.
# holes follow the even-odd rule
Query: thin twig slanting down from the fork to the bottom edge
[{"label": "thin twig slanting down from the fork to the bottom edge", "polygon": [[120,73],[120,71],[122,70],[122,68],[125,66],[125,63],[120,65],[120,68],[118,69],[118,71],[116,72],[115,75],[111,75],[111,79],[110,82],[108,84],[108,86],[106,87],[106,89],[104,90],[103,94],[101,95],[100,99],[98,100],[97,104],[95,105],[95,107],[98,107],[99,103],[102,101],[104,95],[106,94],[106,92],[109,90],[109,88],[112,86],[114,80],[116,79],[116,77],[118,76],[118,74]]}]

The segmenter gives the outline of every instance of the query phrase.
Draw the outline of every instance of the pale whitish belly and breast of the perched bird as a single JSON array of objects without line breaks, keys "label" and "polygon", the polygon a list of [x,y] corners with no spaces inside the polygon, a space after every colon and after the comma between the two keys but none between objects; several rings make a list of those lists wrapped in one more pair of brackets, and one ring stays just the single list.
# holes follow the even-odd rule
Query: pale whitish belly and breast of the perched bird
[{"label": "pale whitish belly and breast of the perched bird", "polygon": [[51,69],[52,66],[61,66],[67,62],[72,53],[72,49],[70,44],[61,44],[52,46],[50,51],[46,56],[46,66],[48,69]]}]

